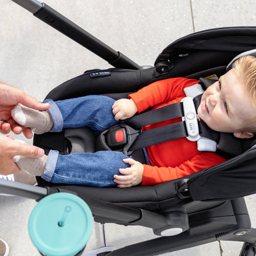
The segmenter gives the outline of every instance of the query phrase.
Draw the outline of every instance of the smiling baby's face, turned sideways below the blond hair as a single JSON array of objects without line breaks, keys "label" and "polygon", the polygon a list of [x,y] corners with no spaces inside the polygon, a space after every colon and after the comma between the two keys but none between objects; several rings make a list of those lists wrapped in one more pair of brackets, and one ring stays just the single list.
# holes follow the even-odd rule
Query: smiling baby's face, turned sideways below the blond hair
[{"label": "smiling baby's face, turned sideways below the blond hair", "polygon": [[[199,117],[218,132],[241,132],[244,121],[255,115],[246,88],[234,69],[220,77],[202,95]],[[246,131],[244,131],[246,132]]]}]

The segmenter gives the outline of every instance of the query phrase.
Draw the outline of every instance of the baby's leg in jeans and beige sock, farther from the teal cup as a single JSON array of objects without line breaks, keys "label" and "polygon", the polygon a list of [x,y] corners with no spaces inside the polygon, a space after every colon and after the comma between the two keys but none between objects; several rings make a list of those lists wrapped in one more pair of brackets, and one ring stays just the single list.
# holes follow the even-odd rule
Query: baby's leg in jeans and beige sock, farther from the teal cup
[{"label": "baby's leg in jeans and beige sock, farther from the teal cup", "polygon": [[15,106],[12,118],[18,124],[30,127],[35,134],[61,132],[63,128],[90,127],[99,133],[117,124],[112,113],[114,100],[99,95],[70,98],[50,103],[47,111]]}]

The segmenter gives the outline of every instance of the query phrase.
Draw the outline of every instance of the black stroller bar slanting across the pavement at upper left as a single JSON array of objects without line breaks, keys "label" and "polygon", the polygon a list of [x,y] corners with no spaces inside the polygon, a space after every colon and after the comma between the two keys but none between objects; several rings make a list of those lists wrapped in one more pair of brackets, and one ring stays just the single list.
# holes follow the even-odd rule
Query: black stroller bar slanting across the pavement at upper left
[{"label": "black stroller bar slanting across the pavement at upper left", "polygon": [[64,17],[62,14],[52,9],[50,6],[47,6],[47,4],[37,0],[12,1],[32,12],[35,17],[47,23],[47,25],[52,26],[55,30],[60,31],[68,36],[68,38],[73,39],[75,42],[78,42],[78,44],[86,47],[86,49],[94,52],[94,54],[103,58],[103,60],[106,60],[115,68],[127,68],[132,70],[145,68],[130,60],[130,58],[126,57],[126,55],[121,52],[117,52],[107,46],[104,42],[98,40],[92,36],[92,34],[71,22],[71,20],[68,20],[68,18]]}]

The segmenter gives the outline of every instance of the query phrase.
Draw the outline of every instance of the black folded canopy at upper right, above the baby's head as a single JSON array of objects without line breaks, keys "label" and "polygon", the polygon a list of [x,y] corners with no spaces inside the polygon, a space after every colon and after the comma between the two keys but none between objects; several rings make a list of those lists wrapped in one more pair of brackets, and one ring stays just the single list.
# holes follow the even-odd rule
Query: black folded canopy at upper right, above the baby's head
[{"label": "black folded canopy at upper right, above the baby's head", "polygon": [[[255,27],[215,28],[172,42],[158,55],[154,66],[159,74],[172,70],[175,76],[188,76],[213,66],[226,66],[236,55],[254,48]],[[193,64],[189,67],[185,60]],[[177,68],[179,62],[184,64],[183,68]]]}]

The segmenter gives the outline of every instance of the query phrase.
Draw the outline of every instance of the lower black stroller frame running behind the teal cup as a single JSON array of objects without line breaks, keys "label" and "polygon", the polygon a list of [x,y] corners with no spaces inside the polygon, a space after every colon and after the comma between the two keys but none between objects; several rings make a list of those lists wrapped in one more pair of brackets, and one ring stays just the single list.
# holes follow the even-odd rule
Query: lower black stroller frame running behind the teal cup
[{"label": "lower black stroller frame running behind the teal cup", "polygon": [[[39,201],[52,193],[74,193],[63,188],[41,188],[18,182],[2,180],[0,191],[15,196]],[[76,194],[76,193],[74,193]],[[177,227],[180,216],[177,212],[158,214],[143,209],[120,206],[100,199],[83,197],[90,207],[94,218],[100,218],[100,223],[113,222],[121,225],[140,225],[152,228]],[[202,202],[202,204],[204,204]],[[167,252],[188,249],[214,241],[241,241],[244,245],[239,256],[253,256],[256,248],[256,229],[250,226],[244,198],[231,201],[208,202],[207,209],[191,214],[189,217],[190,230],[176,236],[161,236],[148,241],[106,252],[103,255],[159,255]],[[206,207],[206,206],[204,206]]]}]

